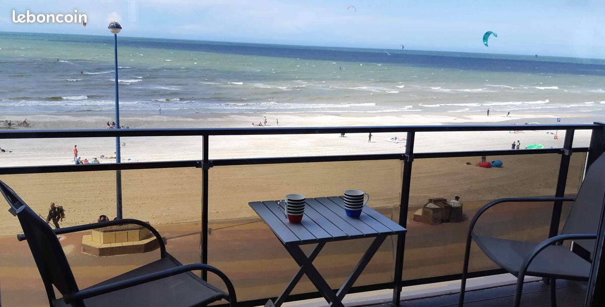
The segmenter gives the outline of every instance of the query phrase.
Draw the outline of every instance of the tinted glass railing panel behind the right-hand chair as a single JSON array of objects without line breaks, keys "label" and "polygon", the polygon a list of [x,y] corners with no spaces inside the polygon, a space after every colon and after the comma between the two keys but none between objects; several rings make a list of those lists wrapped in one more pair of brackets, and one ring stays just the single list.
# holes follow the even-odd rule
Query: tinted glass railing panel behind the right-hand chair
[{"label": "tinted glass railing panel behind the right-hand chair", "polygon": [[[553,196],[560,159],[558,154],[486,157],[487,162],[502,161],[502,167],[490,169],[476,166],[482,157],[414,160],[403,279],[461,273],[466,233],[477,210],[497,198]],[[430,224],[439,222],[440,210],[425,210],[428,199],[450,201],[454,196],[460,196],[462,202],[462,221],[453,222],[460,218],[460,212],[452,209],[451,222]],[[422,215],[414,221],[414,213]],[[430,219],[433,214],[434,219]],[[541,241],[548,238],[551,215],[551,204],[501,204],[482,216],[476,231]],[[497,267],[473,245],[469,271],[492,268]]]}]

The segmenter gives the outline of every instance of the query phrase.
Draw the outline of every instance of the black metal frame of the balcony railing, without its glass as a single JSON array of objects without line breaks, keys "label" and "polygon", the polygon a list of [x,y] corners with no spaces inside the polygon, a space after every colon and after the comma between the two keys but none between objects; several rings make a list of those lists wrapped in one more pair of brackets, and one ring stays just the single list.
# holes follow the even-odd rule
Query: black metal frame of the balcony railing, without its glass
[{"label": "black metal frame of the balcony railing, without its glass", "polygon": [[[566,130],[563,148],[532,149],[532,150],[474,150],[462,152],[427,152],[414,153],[414,138],[417,132],[486,132],[486,131],[523,131],[523,130]],[[576,130],[592,130],[590,147],[572,147],[574,132]],[[210,159],[209,137],[218,135],[283,135],[283,134],[341,134],[341,133],[379,133],[379,132],[407,132],[407,143],[403,154],[364,154],[364,155],[337,155],[313,157],[276,157],[276,158],[235,158]],[[411,167],[414,159],[424,158],[453,158],[478,157],[482,155],[528,155],[528,154],[561,154],[559,175],[555,196],[564,193],[569,170],[569,160],[572,152],[588,152],[587,166],[592,163],[605,150],[605,124],[535,124],[535,125],[455,125],[455,126],[379,126],[379,127],[334,127],[334,128],[188,128],[188,129],[89,129],[89,130],[50,130],[50,131],[1,131],[3,138],[90,138],[90,137],[160,137],[160,136],[201,136],[203,143],[203,157],[201,161],[160,161],[143,163],[114,163],[96,164],[90,166],[22,166],[0,167],[0,175],[23,173],[55,173],[55,172],[94,172],[101,170],[129,170],[129,169],[160,169],[173,167],[200,167],[202,171],[202,236],[201,236],[201,263],[208,264],[208,177],[209,169],[214,166],[235,166],[252,164],[278,164],[278,163],[317,163],[333,161],[369,161],[369,160],[403,160],[401,199],[399,203],[399,224],[407,226],[408,205],[410,196]],[[561,195],[563,196],[563,195]],[[551,236],[558,231],[561,215],[561,205],[554,204],[551,218]],[[554,234],[552,234],[554,233]],[[448,276],[428,277],[416,280],[403,280],[402,269],[404,263],[405,234],[397,236],[396,256],[394,260],[394,281],[374,285],[356,286],[350,292],[364,292],[376,289],[393,289],[394,306],[399,306],[402,286],[419,285],[433,282],[443,282],[460,279],[460,274]],[[486,270],[469,273],[469,276],[489,276],[501,274],[503,270]],[[207,279],[205,273],[202,278]],[[289,300],[312,299],[319,297],[318,292],[295,294]],[[238,302],[241,307],[263,305],[267,299],[256,299]]]}]

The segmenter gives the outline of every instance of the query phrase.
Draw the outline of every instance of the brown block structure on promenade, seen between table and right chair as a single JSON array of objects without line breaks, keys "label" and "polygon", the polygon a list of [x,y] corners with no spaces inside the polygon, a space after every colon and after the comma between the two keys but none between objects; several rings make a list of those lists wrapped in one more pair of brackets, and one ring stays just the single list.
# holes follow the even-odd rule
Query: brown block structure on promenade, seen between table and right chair
[{"label": "brown block structure on promenade, seen between table and right chair", "polygon": [[445,198],[429,198],[427,204],[414,212],[413,221],[429,225],[462,222],[462,204]]}]

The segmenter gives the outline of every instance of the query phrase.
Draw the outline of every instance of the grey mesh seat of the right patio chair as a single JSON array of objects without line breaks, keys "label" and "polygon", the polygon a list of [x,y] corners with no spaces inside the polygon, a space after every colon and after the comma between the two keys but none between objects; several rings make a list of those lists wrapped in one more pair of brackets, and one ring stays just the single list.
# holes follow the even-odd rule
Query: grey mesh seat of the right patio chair
[{"label": "grey mesh seat of the right patio chair", "polygon": [[[508,239],[473,235],[479,248],[494,263],[518,276],[526,257],[537,244]],[[526,275],[554,277],[568,280],[588,280],[590,263],[569,250],[569,247],[551,245],[532,260]]]}]

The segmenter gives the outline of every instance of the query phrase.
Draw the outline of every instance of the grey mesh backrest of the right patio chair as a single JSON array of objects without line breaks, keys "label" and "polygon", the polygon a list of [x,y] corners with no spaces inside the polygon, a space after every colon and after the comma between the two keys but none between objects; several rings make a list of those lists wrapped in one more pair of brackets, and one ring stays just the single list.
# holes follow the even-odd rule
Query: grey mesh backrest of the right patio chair
[{"label": "grey mesh backrest of the right patio chair", "polygon": [[[597,233],[604,201],[605,154],[602,154],[588,168],[561,234]],[[574,244],[589,251],[592,259],[595,240],[579,240],[574,241]]]}]

